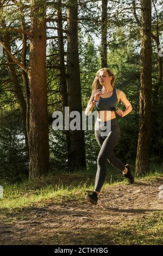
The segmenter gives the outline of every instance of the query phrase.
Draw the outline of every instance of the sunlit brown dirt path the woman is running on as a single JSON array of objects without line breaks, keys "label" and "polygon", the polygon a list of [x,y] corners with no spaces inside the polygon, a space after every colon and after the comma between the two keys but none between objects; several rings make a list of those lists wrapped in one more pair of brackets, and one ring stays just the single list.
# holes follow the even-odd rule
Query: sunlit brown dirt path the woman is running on
[{"label": "sunlit brown dirt path the woman is running on", "polygon": [[18,215],[10,214],[12,222],[0,223],[0,244],[110,245],[109,234],[122,222],[135,217],[142,220],[163,210],[160,185],[163,178],[111,186],[103,190],[97,206],[85,200],[80,204],[77,200],[51,202],[43,208],[34,206]]}]

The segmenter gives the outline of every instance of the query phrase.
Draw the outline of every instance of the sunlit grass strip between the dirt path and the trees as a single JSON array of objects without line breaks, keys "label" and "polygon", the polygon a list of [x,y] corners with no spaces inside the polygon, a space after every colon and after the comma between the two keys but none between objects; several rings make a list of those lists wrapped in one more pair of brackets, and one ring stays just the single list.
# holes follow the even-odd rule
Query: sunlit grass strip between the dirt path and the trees
[{"label": "sunlit grass strip between the dirt path and the trees", "polygon": [[[91,171],[92,172],[92,171]],[[3,198],[0,199],[1,209],[16,209],[32,206],[34,203],[47,202],[54,199],[56,202],[64,200],[82,200],[85,190],[93,190],[95,184],[95,174],[80,172],[73,174],[51,174],[42,176],[34,180],[24,180],[18,184],[4,184]],[[148,182],[160,176],[162,173],[151,172],[146,176],[136,178],[137,181],[143,179]],[[110,173],[106,176],[103,187],[127,183],[120,173]]]}]

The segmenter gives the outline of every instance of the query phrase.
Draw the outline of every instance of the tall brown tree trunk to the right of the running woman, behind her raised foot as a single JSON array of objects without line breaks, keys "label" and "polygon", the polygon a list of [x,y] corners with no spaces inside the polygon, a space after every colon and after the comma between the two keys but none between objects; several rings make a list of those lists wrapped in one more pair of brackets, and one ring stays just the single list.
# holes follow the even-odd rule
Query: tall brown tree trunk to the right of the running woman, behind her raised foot
[{"label": "tall brown tree trunk to the right of the running woman, behind her raised foot", "polygon": [[152,87],[152,44],[151,44],[151,0],[141,0],[141,85],[140,123],[136,154],[136,175],[149,172],[149,148],[151,141],[151,87]]}]

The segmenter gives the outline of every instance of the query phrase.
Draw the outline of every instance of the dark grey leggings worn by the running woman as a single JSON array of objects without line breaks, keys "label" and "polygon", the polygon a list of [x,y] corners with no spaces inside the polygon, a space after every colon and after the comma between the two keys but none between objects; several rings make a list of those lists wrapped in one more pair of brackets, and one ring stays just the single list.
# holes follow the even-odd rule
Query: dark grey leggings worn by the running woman
[{"label": "dark grey leggings worn by the running woman", "polygon": [[[105,127],[110,127],[110,129],[107,128],[106,130]],[[113,151],[120,138],[120,127],[118,126],[116,118],[105,122],[96,120],[95,136],[99,147],[101,147],[97,157],[97,173],[95,180],[95,191],[99,192],[105,181],[106,161],[108,160],[112,166],[121,171],[124,170],[125,165],[115,156]]]}]

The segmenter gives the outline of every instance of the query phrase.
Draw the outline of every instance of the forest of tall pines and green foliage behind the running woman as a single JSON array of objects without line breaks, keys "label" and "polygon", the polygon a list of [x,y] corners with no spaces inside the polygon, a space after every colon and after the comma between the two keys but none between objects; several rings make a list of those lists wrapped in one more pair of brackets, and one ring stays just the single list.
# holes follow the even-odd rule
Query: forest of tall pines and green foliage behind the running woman
[{"label": "forest of tall pines and green foliage behind the running woman", "polygon": [[[159,175],[161,179],[163,1],[1,0],[0,22],[0,185],[4,187],[3,200],[9,197],[11,203],[13,191],[25,191],[26,183],[23,182],[27,182],[29,193],[30,189],[41,191],[46,186],[53,190],[56,185],[59,191],[60,186],[75,189],[80,182],[86,182],[86,187],[93,184],[99,153],[94,128],[55,130],[53,124],[54,113],[61,112],[65,118],[67,107],[70,113],[78,111],[82,115],[91,97],[96,72],[102,68],[114,72],[115,88],[126,94],[133,107],[123,118],[116,114],[121,134],[114,150],[116,156],[131,164],[137,180],[147,177],[148,181],[150,175]],[[122,102],[118,108],[125,110]],[[72,116],[69,122],[71,120]],[[114,167],[108,164],[107,170],[109,184],[122,182]],[[163,179],[157,186],[161,184]],[[82,188],[82,193],[86,187]],[[136,187],[135,191],[138,189]],[[22,191],[20,193],[25,193]],[[8,203],[3,205],[3,200],[2,208],[7,209]],[[11,209],[19,208],[17,204],[13,206],[14,203],[9,205]],[[140,205],[136,207],[141,208]],[[7,217],[6,212],[4,215]],[[54,244],[64,244],[59,237],[56,243],[53,240]],[[114,241],[113,237],[112,244],[121,244],[122,241]],[[162,237],[161,233],[156,244],[161,244]],[[80,244],[86,244],[82,236],[79,238]],[[38,238],[35,244],[41,244],[40,241]],[[51,244],[47,241],[44,243]],[[103,237],[102,244],[107,244],[106,241]],[[128,243],[141,243],[141,239],[134,241]],[[148,242],[144,240],[143,244]],[[5,239],[2,241],[2,244],[8,243]],[[98,239],[95,244],[99,244]]]}]

